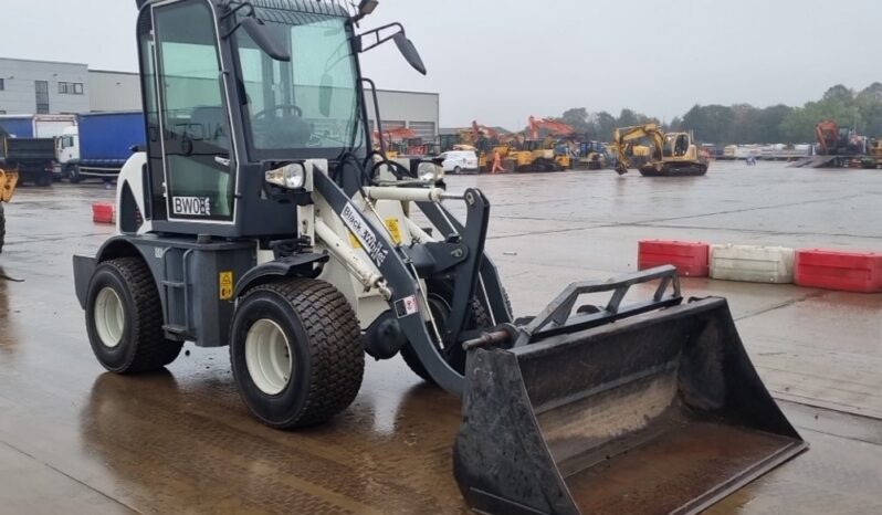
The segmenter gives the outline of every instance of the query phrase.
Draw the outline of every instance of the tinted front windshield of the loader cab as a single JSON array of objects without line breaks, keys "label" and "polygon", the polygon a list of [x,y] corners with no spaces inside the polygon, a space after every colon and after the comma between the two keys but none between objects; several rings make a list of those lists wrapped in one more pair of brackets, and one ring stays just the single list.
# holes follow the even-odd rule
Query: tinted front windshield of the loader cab
[{"label": "tinted front windshield of the loader cab", "polygon": [[237,32],[243,114],[256,159],[288,158],[298,149],[330,158],[365,144],[346,19],[311,13],[296,20],[266,22],[290,45],[287,63]]}]

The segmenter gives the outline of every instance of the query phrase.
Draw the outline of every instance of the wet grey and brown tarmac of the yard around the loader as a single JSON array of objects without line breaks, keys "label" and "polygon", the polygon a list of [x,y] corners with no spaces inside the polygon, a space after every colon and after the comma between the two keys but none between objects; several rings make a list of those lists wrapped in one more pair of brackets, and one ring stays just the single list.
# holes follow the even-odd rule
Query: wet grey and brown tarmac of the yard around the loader
[{"label": "wet grey and brown tarmac of the yard around the loader", "polygon": [[[518,315],[570,281],[636,270],[643,238],[882,251],[882,170],[716,164],[704,178],[563,172],[455,177],[493,202],[489,249]],[[399,359],[355,404],[300,432],[262,427],[225,349],[161,374],[105,374],[71,255],[113,228],[97,183],[21,189],[0,255],[0,513],[468,513],[451,472],[458,399]],[[3,275],[3,274],[0,274]],[[685,280],[728,297],[752,359],[811,449],[713,514],[882,513],[882,295]]]}]

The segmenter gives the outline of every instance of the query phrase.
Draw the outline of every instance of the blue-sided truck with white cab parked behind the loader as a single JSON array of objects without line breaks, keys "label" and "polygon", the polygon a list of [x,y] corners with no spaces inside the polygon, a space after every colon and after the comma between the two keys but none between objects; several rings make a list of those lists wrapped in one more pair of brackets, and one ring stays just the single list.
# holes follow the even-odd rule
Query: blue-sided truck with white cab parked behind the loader
[{"label": "blue-sided truck with white cab parked behind the loader", "polygon": [[78,146],[78,155],[70,153],[72,157],[62,162],[64,175],[74,183],[90,177],[115,179],[132,156],[132,147],[147,141],[141,112],[83,114],[77,125],[76,137],[62,141],[65,147]]}]

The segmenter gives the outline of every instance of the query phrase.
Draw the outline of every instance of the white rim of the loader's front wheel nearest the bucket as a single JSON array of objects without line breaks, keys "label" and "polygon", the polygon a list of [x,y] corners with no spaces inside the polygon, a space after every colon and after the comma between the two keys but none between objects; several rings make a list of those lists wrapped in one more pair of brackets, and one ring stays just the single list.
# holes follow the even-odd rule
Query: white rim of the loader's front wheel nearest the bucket
[{"label": "white rim of the loader's front wheel nearest the bucket", "polygon": [[254,385],[267,396],[287,387],[294,358],[285,332],[273,320],[255,322],[245,337],[245,365]]}]

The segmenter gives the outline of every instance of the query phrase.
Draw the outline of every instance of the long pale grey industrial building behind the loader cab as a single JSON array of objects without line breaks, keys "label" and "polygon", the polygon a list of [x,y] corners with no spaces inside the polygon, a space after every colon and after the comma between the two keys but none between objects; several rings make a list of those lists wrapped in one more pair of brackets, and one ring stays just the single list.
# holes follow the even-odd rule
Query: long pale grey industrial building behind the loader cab
[{"label": "long pale grey industrial building behind the loader cab", "polygon": [[[367,105],[374,118],[370,96]],[[409,127],[427,139],[438,136],[438,93],[379,90],[377,98],[384,128]],[[0,57],[0,115],[138,111],[140,102],[137,73],[90,70],[80,63]],[[376,129],[372,119],[370,125]]]}]

